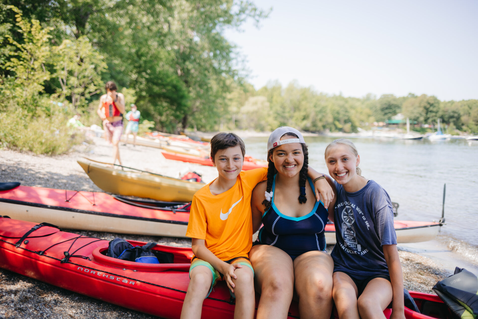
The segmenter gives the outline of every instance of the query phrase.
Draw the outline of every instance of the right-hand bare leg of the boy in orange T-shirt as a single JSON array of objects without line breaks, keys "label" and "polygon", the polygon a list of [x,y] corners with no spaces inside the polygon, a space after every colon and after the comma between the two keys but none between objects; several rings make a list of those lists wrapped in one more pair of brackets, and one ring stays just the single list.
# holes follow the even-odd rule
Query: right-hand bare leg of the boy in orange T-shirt
[{"label": "right-hand bare leg of the boy in orange T-shirt", "polygon": [[244,265],[242,265],[242,268],[236,268],[234,274],[238,277],[232,279],[235,286],[234,295],[236,296],[234,319],[253,319],[256,308],[254,274],[248,266]]}]

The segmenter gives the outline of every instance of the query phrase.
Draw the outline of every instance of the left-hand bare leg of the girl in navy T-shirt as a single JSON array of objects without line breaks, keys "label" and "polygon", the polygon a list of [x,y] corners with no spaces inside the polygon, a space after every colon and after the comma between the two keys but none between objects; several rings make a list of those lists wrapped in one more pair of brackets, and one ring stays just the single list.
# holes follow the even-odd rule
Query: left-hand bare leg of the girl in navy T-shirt
[{"label": "left-hand bare leg of the girl in navy T-shirt", "polygon": [[359,291],[352,278],[341,272],[334,273],[332,277],[334,279],[332,295],[334,296],[338,318],[359,319],[359,309],[357,308]]}]

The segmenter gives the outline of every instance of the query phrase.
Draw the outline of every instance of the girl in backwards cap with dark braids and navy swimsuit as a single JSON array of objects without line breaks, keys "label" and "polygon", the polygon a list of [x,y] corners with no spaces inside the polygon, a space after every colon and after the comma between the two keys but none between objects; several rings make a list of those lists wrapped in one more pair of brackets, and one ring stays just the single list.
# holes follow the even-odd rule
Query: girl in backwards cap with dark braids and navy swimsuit
[{"label": "girl in backwards cap with dark braids and navy swimsuit", "polygon": [[334,263],[325,252],[325,225],[333,220],[335,199],[327,210],[315,199],[307,177],[308,153],[302,134],[292,127],[272,132],[267,143],[267,181],[252,192],[253,230],[261,228],[249,257],[261,293],[257,318],[286,318],[295,287],[302,319],[330,318]]}]

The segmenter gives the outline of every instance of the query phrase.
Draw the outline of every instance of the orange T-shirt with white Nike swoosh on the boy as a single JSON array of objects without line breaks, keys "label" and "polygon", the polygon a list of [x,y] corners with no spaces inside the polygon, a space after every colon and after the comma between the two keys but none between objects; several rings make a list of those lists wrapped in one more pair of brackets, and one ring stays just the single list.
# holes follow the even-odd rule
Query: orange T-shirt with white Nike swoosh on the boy
[{"label": "orange T-shirt with white Nike swoosh on the boy", "polygon": [[204,239],[206,248],[227,261],[248,256],[252,247],[252,189],[267,178],[267,167],[241,171],[233,187],[219,195],[209,185],[193,197],[186,236]]}]

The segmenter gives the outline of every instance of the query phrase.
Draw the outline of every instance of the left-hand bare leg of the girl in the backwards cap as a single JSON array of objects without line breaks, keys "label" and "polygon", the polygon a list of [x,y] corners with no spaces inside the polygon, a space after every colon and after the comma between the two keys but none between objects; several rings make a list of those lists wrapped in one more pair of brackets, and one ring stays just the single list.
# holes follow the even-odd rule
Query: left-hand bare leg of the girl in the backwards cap
[{"label": "left-hand bare leg of the girl in the backwards cap", "polygon": [[249,258],[254,267],[256,291],[261,293],[256,318],[287,318],[294,287],[291,257],[277,247],[256,245]]}]

